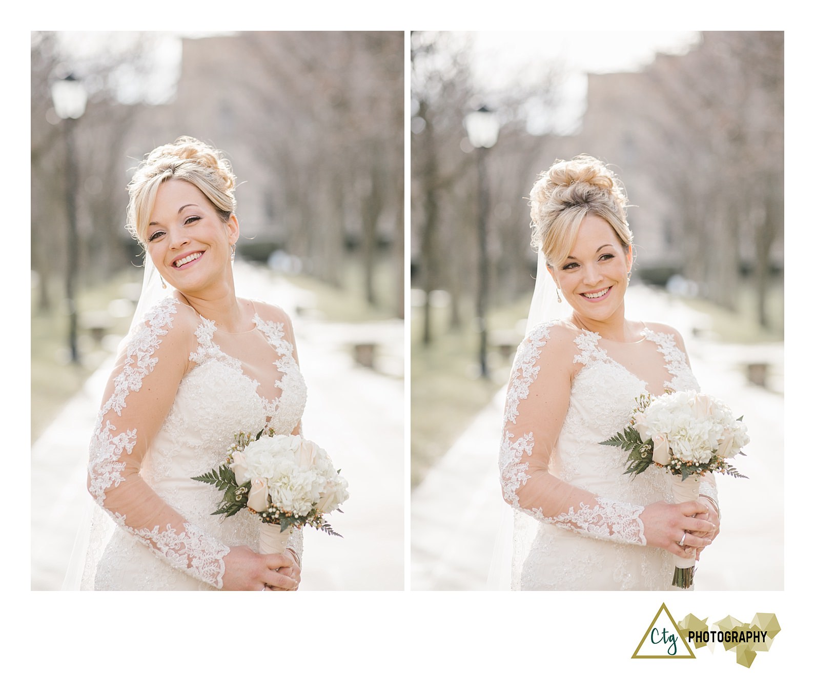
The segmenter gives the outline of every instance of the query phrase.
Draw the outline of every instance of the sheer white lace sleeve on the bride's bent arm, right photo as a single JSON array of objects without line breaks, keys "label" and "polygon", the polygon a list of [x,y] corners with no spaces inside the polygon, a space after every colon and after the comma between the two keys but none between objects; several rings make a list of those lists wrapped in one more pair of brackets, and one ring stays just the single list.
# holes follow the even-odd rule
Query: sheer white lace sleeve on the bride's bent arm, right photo
[{"label": "sheer white lace sleeve on the bride's bent arm, right photo", "polygon": [[597,497],[548,471],[569,408],[573,355],[565,328],[542,323],[518,346],[500,447],[504,500],[577,534],[645,545],[639,505]]}]

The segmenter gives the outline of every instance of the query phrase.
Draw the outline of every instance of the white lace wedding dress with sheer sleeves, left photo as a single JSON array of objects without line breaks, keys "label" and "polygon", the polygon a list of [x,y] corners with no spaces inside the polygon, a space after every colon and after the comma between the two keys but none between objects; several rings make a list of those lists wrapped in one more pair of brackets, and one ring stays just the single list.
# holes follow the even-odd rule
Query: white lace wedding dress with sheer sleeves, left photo
[{"label": "white lace wedding dress with sheer sleeves, left photo", "polygon": [[[211,514],[220,491],[191,477],[226,457],[235,433],[297,432],[306,385],[288,316],[253,304],[255,328],[222,332],[167,297],[131,333],[104,395],[88,467],[96,517],[82,588],[222,587],[231,546],[258,551],[258,517]],[[289,547],[302,553],[302,533]]]}]

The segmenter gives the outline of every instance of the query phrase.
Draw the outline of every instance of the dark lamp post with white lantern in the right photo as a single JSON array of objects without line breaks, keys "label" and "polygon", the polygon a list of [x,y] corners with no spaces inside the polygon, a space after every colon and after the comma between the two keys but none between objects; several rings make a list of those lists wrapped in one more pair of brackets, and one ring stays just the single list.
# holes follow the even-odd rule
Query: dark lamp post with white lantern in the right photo
[{"label": "dark lamp post with white lantern in the right photo", "polygon": [[469,143],[475,148],[478,167],[478,289],[476,293],[475,313],[478,322],[478,359],[481,364],[481,376],[489,376],[487,370],[487,210],[489,194],[487,192],[487,173],[485,158],[487,149],[496,144],[500,124],[495,112],[482,105],[475,112],[465,117],[465,127]]}]

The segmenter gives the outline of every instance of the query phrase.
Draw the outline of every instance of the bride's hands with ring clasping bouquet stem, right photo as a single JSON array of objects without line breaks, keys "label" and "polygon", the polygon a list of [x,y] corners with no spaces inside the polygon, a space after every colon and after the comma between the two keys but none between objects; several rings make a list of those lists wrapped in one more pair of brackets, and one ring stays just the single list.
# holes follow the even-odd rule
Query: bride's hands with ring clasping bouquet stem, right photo
[{"label": "bride's hands with ring clasping bouquet stem, right photo", "polygon": [[[707,505],[695,500],[680,504],[651,503],[640,514],[645,528],[645,543],[649,547],[667,549],[676,556],[693,556],[696,548],[704,548],[711,543],[711,539],[704,535],[716,530],[711,521],[699,516],[706,510]],[[680,542],[683,543],[682,547]]]}]

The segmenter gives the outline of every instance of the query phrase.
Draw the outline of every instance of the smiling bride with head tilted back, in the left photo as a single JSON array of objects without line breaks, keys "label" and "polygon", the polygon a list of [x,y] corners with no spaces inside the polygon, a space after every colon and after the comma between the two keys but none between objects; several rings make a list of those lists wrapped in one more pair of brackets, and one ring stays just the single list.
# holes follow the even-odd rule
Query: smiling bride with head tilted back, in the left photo
[{"label": "smiling bride with head tilted back, in the left photo", "polygon": [[[130,183],[145,282],[88,464],[88,490],[117,526],[105,534],[95,517],[83,588],[297,590],[302,533],[261,555],[258,517],[213,516],[218,490],[191,478],[241,430],[298,433],[306,403],[289,317],[236,297],[235,187],[222,154],[186,136],[150,152]],[[159,282],[171,288],[152,304]]]}]

